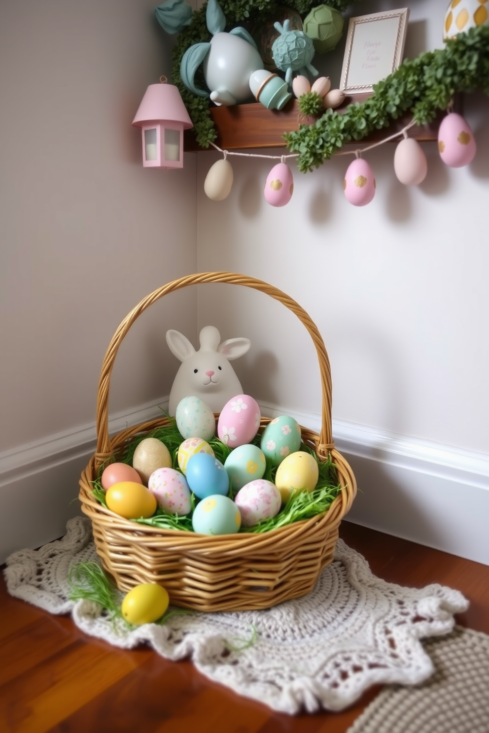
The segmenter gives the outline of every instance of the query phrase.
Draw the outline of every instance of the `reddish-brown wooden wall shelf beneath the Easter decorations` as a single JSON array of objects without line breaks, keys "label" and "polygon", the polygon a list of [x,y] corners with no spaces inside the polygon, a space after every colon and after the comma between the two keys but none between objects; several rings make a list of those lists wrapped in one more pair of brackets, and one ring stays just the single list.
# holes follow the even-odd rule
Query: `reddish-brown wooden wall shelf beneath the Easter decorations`
[{"label": "reddish-brown wooden wall shelf beneath the Easter decorations", "polygon": [[[358,94],[345,97],[345,103],[335,111],[344,112],[352,103],[364,102],[368,94]],[[210,117],[216,125],[218,133],[216,144],[223,150],[246,150],[249,148],[263,147],[285,147],[282,135],[284,132],[298,130],[301,124],[308,122],[308,118],[300,119],[298,100],[291,99],[281,111],[266,109],[259,102],[234,105],[231,107],[213,107],[210,109]],[[438,139],[438,127],[444,112],[433,120],[429,125],[414,126],[409,130],[409,136],[419,141],[433,141]],[[400,132],[410,122],[409,114],[394,120],[389,128],[376,130],[367,138],[352,143],[364,146],[370,142],[384,139],[386,136]],[[309,118],[309,123],[315,122]],[[194,131],[185,130],[185,150],[204,150],[196,144]],[[209,147],[206,150],[213,150]]]}]

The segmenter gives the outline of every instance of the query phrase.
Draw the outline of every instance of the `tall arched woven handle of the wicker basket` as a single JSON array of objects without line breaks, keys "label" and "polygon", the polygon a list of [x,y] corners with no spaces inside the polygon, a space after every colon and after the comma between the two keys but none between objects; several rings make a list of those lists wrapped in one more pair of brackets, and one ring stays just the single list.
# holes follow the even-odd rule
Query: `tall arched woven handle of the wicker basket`
[{"label": "tall arched woven handle of the wicker basket", "polygon": [[304,324],[307,331],[309,331],[309,336],[311,336],[317,351],[317,358],[320,366],[321,388],[323,392],[321,431],[319,441],[316,446],[316,452],[318,456],[320,455],[326,458],[328,456],[328,452],[334,448],[334,442],[331,431],[331,369],[322,336],[319,331],[317,331],[315,323],[311,320],[306,311],[304,311],[304,309],[301,308],[301,306],[299,306],[299,304],[292,298],[282,292],[282,290],[278,290],[276,287],[273,287],[273,285],[269,285],[262,280],[238,275],[237,273],[227,272],[196,273],[163,285],[163,287],[158,288],[158,290],[154,290],[150,295],[147,295],[146,298],[143,298],[139,305],[128,313],[119,328],[117,328],[106,352],[106,356],[103,359],[102,371],[100,373],[100,380],[98,383],[97,456],[99,458],[106,457],[111,451],[109,440],[110,380],[117,351],[119,350],[125,334],[128,333],[130,326],[133,325],[136,318],[149,308],[152,303],[163,298],[163,295],[168,295],[170,292],[181,290],[183,287],[188,287],[188,285],[197,285],[206,282],[224,282],[234,285],[243,285],[244,287],[251,287],[254,290],[260,290],[260,292],[265,293],[265,295],[270,295],[271,298],[283,303],[284,306],[295,313],[301,323]]}]

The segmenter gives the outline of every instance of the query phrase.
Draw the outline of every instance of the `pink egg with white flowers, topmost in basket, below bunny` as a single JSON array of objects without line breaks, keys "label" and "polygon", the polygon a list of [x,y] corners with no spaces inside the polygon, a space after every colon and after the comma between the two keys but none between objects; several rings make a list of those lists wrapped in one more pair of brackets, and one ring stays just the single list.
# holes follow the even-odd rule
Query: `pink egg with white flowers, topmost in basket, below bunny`
[{"label": "pink egg with white flowers, topmost in basket, below bunny", "polygon": [[237,394],[229,399],[217,423],[218,438],[229,448],[251,443],[260,427],[260,407],[249,394]]}]

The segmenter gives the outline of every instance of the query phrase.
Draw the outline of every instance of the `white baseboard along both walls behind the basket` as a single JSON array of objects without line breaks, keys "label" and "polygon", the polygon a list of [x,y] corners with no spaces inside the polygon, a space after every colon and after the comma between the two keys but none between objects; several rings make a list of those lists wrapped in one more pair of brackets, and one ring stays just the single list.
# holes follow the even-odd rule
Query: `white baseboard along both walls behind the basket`
[{"label": "white baseboard along both walls behind the basket", "polygon": [[[168,398],[114,415],[111,435],[161,415]],[[260,404],[316,432],[320,416]],[[489,565],[489,455],[334,421],[359,485],[348,521]],[[95,452],[95,423],[0,453],[0,562],[65,534],[79,514],[78,479]]]}]

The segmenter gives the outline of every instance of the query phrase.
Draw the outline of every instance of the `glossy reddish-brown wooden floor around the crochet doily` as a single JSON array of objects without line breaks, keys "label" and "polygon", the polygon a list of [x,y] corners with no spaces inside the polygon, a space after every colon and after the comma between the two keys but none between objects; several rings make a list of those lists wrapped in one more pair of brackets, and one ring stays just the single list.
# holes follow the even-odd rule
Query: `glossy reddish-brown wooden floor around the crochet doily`
[{"label": "glossy reddish-brown wooden floor around the crochet doily", "polygon": [[[340,536],[386,581],[463,592],[459,625],[489,634],[489,567],[343,521]],[[273,712],[168,662],[85,636],[67,616],[10,597],[0,581],[1,733],[342,733],[379,688],[341,713]]]}]

